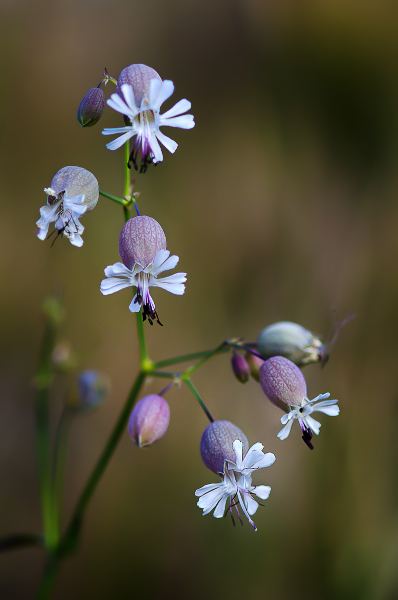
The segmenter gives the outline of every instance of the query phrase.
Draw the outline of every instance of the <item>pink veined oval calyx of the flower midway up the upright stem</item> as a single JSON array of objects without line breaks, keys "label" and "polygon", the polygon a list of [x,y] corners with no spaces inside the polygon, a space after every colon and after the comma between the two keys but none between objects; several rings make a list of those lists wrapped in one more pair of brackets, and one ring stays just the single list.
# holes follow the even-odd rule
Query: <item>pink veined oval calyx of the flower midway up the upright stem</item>
[{"label": "pink veined oval calyx of the flower midway up the upright stem", "polygon": [[145,216],[127,221],[119,238],[120,257],[127,269],[135,263],[147,267],[159,250],[166,250],[166,236],[158,221]]}]

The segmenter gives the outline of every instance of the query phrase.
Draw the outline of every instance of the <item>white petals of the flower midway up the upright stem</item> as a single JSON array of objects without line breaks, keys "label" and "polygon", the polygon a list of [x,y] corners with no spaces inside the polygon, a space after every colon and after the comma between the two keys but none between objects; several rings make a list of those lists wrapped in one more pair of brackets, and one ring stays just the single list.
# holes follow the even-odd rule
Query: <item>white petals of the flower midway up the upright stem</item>
[{"label": "white petals of the flower midway up the upright stem", "polygon": [[156,319],[160,325],[158,314],[156,313],[155,302],[149,293],[149,287],[162,287],[167,292],[182,295],[185,291],[186,273],[175,273],[158,279],[159,273],[174,269],[179,262],[178,256],[170,256],[169,250],[159,250],[156,253],[153,262],[147,266],[142,266],[135,262],[131,269],[121,262],[107,266],[105,275],[108,279],[101,281],[100,290],[103,295],[112,294],[122,290],[124,287],[136,286],[137,292],[130,303],[130,311],[138,313],[141,305],[143,307],[142,318],[152,325],[152,319]]}]

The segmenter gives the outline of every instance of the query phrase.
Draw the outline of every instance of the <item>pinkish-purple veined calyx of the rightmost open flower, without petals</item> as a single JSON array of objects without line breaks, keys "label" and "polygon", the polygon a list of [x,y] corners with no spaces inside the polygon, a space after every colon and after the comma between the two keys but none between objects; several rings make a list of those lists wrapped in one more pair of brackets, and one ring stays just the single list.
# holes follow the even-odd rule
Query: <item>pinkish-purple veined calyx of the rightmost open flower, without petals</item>
[{"label": "pinkish-purple veined calyx of the rightmost open flower, without petals", "polygon": [[301,371],[288,358],[273,356],[260,368],[260,386],[272,404],[285,412],[290,406],[301,406],[307,397],[307,384]]}]

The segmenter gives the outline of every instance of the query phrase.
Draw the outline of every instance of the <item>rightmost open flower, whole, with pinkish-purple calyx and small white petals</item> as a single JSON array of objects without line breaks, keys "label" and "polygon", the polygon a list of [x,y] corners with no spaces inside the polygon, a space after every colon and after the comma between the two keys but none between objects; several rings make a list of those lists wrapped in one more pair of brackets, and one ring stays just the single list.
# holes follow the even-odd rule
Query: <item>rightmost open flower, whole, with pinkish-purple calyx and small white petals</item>
[{"label": "rightmost open flower, whole, with pinkish-purple calyx and small white petals", "polygon": [[[330,394],[320,394],[314,400],[308,400],[307,383],[298,367],[284,356],[273,356],[260,368],[260,386],[272,404],[287,412],[281,417],[283,429],[278,433],[281,440],[289,436],[293,420],[298,419],[302,431],[302,440],[308,448],[314,449],[311,439],[313,433],[319,434],[320,423],[311,417],[319,410],[329,416],[338,415],[337,400],[324,400]],[[316,404],[314,404],[316,403]]]}]

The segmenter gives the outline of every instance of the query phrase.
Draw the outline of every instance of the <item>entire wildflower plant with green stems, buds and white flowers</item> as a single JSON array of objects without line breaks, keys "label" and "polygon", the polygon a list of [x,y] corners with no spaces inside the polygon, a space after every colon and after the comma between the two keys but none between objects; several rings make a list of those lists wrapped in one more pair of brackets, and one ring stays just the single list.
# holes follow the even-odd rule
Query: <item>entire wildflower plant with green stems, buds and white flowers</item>
[{"label": "entire wildflower plant with green stems, buds and white flowers", "polygon": [[[111,388],[107,376],[94,370],[81,373],[78,385],[73,388],[74,391],[69,391],[65,398],[53,448],[49,427],[49,391],[57,374],[72,371],[75,368],[75,361],[67,359],[70,354],[68,349],[67,356],[63,359],[63,368],[60,370],[57,332],[64,318],[63,307],[57,297],[49,298],[44,303],[46,325],[35,376],[37,460],[43,535],[22,535],[19,538],[11,536],[2,540],[3,548],[24,545],[27,539],[29,543],[44,547],[46,562],[38,592],[38,598],[43,599],[49,598],[51,594],[60,561],[76,551],[83,517],[121,436],[128,428],[130,437],[138,448],[152,445],[154,442],[160,445],[163,436],[167,436],[168,424],[170,418],[173,418],[174,410],[174,408],[170,410],[164,395],[175,386],[179,388],[184,386],[188,389],[210,422],[204,428],[200,453],[205,466],[221,478],[220,482],[206,484],[195,491],[198,506],[203,509],[204,515],[213,512],[217,518],[229,513],[233,523],[235,523],[234,512],[237,512],[241,523],[242,514],[256,530],[251,517],[259,507],[259,499],[268,499],[271,488],[269,485],[254,485],[252,476],[257,470],[271,466],[275,461],[275,455],[273,452],[264,454],[262,442],[249,447],[245,434],[236,425],[229,421],[213,419],[192,381],[195,372],[210,359],[222,353],[229,353],[232,371],[239,382],[246,383],[250,377],[254,382],[260,382],[266,397],[285,413],[281,419],[284,427],[278,433],[280,439],[285,439],[289,435],[292,423],[297,419],[305,443],[312,448],[312,434],[319,433],[320,424],[311,413],[318,410],[327,415],[338,414],[337,401],[325,400],[329,394],[320,395],[314,400],[307,398],[307,385],[299,367],[292,362],[293,356],[299,365],[319,361],[319,356],[321,358],[323,356],[323,346],[319,338],[295,323],[282,322],[264,329],[257,344],[245,344],[241,338],[230,338],[211,350],[159,361],[153,361],[150,357],[145,341],[145,328],[153,325],[155,321],[159,325],[163,323],[167,326],[167,315],[162,316],[162,323],[158,316],[162,295],[159,294],[159,298],[156,295],[155,306],[150,287],[161,287],[167,292],[182,296],[185,292],[186,273],[164,275],[165,272],[172,271],[176,267],[179,257],[170,255],[170,251],[167,250],[166,236],[161,224],[152,215],[141,215],[139,212],[137,204],[139,194],[133,192],[130,166],[135,167],[140,173],[145,173],[152,163],[161,163],[163,154],[159,142],[171,153],[174,153],[177,148],[176,142],[166,136],[161,128],[190,129],[195,123],[194,117],[186,114],[191,109],[191,103],[186,99],[179,100],[171,109],[161,114],[162,104],[173,93],[173,82],[162,80],[152,67],[135,64],[124,68],[118,79],[109,76],[108,71],[105,70],[99,85],[91,88],[80,103],[77,116],[82,127],[93,127],[103,118],[106,106],[102,86],[105,88],[108,83],[115,85],[116,88],[106,100],[106,104],[120,113],[120,118],[123,115],[124,126],[105,128],[102,133],[105,136],[111,134],[118,136],[107,144],[109,149],[116,150],[124,146],[124,196],[118,197],[99,190],[96,176],[83,167],[63,167],[54,176],[50,186],[44,188],[47,203],[40,208],[37,235],[41,240],[46,239],[49,225],[54,222],[57,237],[65,237],[72,245],[79,247],[83,244],[84,230],[79,220],[96,206],[99,195],[112,200],[121,209],[123,226],[120,214],[115,213],[115,221],[120,220],[121,226],[119,238],[121,262],[104,265],[105,278],[100,283],[99,277],[99,292],[103,295],[111,295],[126,287],[134,288],[129,309],[135,314],[139,366],[109,439],[88,476],[66,528],[63,529],[61,500],[70,427],[78,415],[90,415],[92,410],[99,409],[99,405]],[[130,148],[132,139],[133,146]],[[135,211],[136,215],[132,214],[132,211]],[[173,242],[171,245],[174,246]],[[64,251],[70,250],[64,247]],[[188,265],[188,258],[183,257],[183,268]],[[112,259],[114,257],[110,256],[109,261]],[[188,266],[187,271],[189,271]],[[179,302],[182,302],[181,298],[176,299],[176,310],[179,310]],[[127,307],[126,317],[134,318],[127,311]],[[339,325],[342,324],[344,323],[341,322]],[[334,337],[338,331],[340,327],[336,326]],[[283,356],[280,356],[281,354]],[[292,360],[286,358],[286,355],[289,355]],[[185,370],[173,369],[174,365],[184,363],[189,364]],[[149,377],[155,382],[167,379],[168,384],[161,391],[140,398],[142,387]],[[245,394],[247,393],[245,388]],[[106,404],[102,409],[106,409]],[[277,443],[276,439],[272,442],[266,440],[266,446],[271,445],[272,449],[274,443]],[[133,447],[132,452],[134,452]],[[192,490],[193,500],[194,490]],[[266,520],[266,514],[263,518]]]}]

